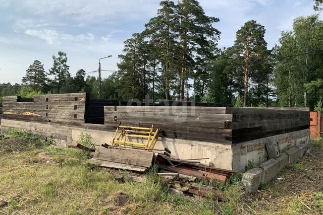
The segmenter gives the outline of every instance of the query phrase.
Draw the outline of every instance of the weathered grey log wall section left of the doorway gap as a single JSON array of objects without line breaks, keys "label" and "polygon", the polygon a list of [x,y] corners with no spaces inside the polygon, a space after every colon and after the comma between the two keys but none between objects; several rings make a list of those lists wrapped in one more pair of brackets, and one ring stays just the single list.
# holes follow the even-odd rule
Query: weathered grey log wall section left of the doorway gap
[{"label": "weathered grey log wall section left of the doorway gap", "polygon": [[3,97],[4,119],[52,124],[84,123],[86,93],[36,95],[31,99]]}]

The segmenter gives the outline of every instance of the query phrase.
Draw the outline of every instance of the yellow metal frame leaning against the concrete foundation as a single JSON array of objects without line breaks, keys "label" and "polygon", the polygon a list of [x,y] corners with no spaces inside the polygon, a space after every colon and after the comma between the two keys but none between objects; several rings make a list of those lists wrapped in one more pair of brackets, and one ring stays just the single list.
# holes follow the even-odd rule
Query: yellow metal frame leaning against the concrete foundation
[{"label": "yellow metal frame leaning against the concrete foundation", "polygon": [[[160,130],[157,128],[154,130],[153,124],[151,127],[134,127],[134,126],[126,126],[121,125],[119,123],[115,135],[113,136],[113,140],[111,144],[113,146],[131,146],[131,147],[140,147],[146,150],[153,149],[159,137]],[[129,137],[142,138],[147,139],[140,142],[133,142]]]}]

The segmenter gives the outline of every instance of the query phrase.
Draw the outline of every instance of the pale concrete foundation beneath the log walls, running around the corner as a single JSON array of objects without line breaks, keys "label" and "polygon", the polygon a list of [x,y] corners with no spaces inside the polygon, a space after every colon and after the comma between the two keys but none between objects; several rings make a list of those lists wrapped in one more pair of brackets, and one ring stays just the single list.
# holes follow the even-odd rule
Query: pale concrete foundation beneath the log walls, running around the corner
[{"label": "pale concrete foundation beneath the log walls, running around the corner", "polygon": [[[75,146],[82,133],[90,135],[95,139],[94,142],[97,145],[111,143],[114,135],[113,131],[104,130],[104,125],[101,127],[100,125],[85,125],[86,126],[84,127],[73,127],[9,119],[2,120],[2,130],[18,128],[28,130],[42,136],[51,136],[56,141],[57,145],[62,147],[68,147],[69,145]],[[139,142],[140,140],[137,141]],[[156,142],[155,149],[168,148],[172,152],[173,157],[180,159],[208,158],[207,160],[201,160],[201,163],[211,165],[216,168],[243,173],[247,170],[248,162],[252,162],[254,165],[259,165],[264,162],[266,163],[267,153],[265,150],[265,143],[268,141],[276,141],[282,151],[287,149],[289,146],[304,146],[309,141],[309,129],[245,141],[240,144],[233,145],[160,137]],[[295,154],[294,151],[287,151],[286,154],[291,162],[294,162],[295,158],[300,156],[300,153]],[[275,161],[267,162],[281,163],[278,160]],[[266,166],[266,164],[264,165]],[[268,175],[271,172],[270,167],[266,166],[266,169],[268,169],[267,174],[264,174],[263,177],[271,178],[271,176]],[[261,178],[261,181],[268,181],[268,179]]]}]

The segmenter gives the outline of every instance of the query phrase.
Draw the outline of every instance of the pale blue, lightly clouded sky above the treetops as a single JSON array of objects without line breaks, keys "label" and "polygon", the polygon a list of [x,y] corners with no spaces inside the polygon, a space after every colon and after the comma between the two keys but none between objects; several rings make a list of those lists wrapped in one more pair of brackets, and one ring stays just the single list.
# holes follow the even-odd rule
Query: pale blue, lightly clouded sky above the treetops
[{"label": "pale blue, lightly clouded sky above the treetops", "polygon": [[[0,0],[0,83],[21,83],[37,59],[46,71],[52,55],[64,51],[72,76],[78,69],[116,70],[123,42],[156,15],[156,0]],[[266,28],[268,48],[278,44],[293,19],[314,14],[312,0],[200,0],[205,14],[220,18],[219,47],[233,45],[236,31],[248,20]],[[322,19],[322,14],[320,14]],[[102,77],[111,75],[102,71]],[[92,73],[97,76],[97,73]]]}]

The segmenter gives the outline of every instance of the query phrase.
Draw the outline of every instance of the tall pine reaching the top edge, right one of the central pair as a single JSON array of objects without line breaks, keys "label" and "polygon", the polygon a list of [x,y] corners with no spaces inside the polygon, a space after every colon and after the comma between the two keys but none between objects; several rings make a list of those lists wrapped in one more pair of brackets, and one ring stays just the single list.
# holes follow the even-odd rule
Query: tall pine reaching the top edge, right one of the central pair
[{"label": "tall pine reaching the top edge, right one of the central pair", "polygon": [[219,18],[206,16],[203,8],[196,0],[178,2],[178,37],[180,45],[179,99],[184,99],[184,85],[188,74],[196,66],[195,56],[210,54],[210,43],[216,43],[220,31],[212,26]]}]

